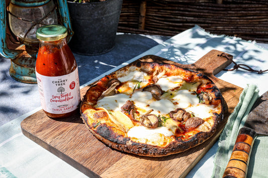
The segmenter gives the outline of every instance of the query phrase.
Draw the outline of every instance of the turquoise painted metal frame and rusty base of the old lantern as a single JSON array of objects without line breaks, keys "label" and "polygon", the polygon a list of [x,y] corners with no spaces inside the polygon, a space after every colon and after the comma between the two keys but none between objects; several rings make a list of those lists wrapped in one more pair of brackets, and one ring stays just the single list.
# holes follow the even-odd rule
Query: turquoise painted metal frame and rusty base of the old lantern
[{"label": "turquoise painted metal frame and rusty base of the old lantern", "polygon": [[[11,0],[11,3],[20,7],[32,8],[43,6],[50,1],[52,0]],[[67,0],[58,0],[58,5],[61,22],[68,31],[67,41],[69,42],[73,35],[73,31],[71,29]],[[0,55],[11,60],[11,77],[23,83],[36,84],[36,56],[27,53],[25,54],[26,47],[23,44],[16,49],[7,48],[7,12],[5,0],[1,1],[0,18]]]}]

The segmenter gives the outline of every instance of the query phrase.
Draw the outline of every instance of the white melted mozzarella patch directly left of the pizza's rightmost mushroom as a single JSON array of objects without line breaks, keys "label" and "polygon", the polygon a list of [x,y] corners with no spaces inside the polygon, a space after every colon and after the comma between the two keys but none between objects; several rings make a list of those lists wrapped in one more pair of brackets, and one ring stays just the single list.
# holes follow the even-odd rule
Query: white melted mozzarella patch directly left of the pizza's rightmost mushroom
[{"label": "white melted mozzarella patch directly left of the pizza's rightmost mushroom", "polygon": [[176,93],[176,96],[173,98],[173,102],[178,103],[176,104],[177,108],[187,108],[191,105],[199,104],[199,99],[196,95],[193,95],[192,92],[188,90],[179,90]]}]

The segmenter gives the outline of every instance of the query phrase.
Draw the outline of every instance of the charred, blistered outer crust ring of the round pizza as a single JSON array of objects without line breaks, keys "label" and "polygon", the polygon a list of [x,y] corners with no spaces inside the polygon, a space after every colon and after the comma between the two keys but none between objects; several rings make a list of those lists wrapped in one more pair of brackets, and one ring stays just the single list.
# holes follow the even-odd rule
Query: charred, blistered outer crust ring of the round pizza
[{"label": "charred, blistered outer crust ring of the round pizza", "polygon": [[[204,126],[204,128],[206,127],[206,129],[204,129],[205,131],[202,131],[202,127],[201,129],[199,127],[191,136],[187,135],[187,137],[183,137],[183,134],[180,134],[181,136],[164,136],[161,143],[140,141],[140,139],[136,139],[135,137],[128,137],[127,130],[131,126],[127,126],[128,128],[125,126],[118,127],[118,123],[116,124],[110,119],[111,115],[109,111],[105,108],[96,108],[95,106],[97,102],[104,97],[104,93],[111,89],[111,85],[116,85],[114,88],[120,86],[120,84],[111,84],[111,81],[127,75],[130,71],[142,71],[148,74],[150,79],[147,86],[155,84],[161,77],[161,74],[165,76],[180,76],[188,83],[198,82],[199,85],[196,94],[208,93],[211,96],[210,101],[204,104],[210,104],[215,108],[217,107],[217,111],[213,112],[213,116],[209,118],[210,124]],[[115,91],[118,92],[118,90]],[[111,91],[109,92],[111,93]],[[116,95],[118,93],[113,94]],[[207,76],[201,73],[183,69],[172,64],[136,61],[105,76],[92,85],[83,97],[80,112],[81,118],[87,128],[95,137],[110,147],[137,155],[157,157],[183,152],[203,143],[213,136],[223,121],[223,98],[216,85]],[[138,121],[136,122],[133,119],[131,121],[134,126],[140,125]]]}]

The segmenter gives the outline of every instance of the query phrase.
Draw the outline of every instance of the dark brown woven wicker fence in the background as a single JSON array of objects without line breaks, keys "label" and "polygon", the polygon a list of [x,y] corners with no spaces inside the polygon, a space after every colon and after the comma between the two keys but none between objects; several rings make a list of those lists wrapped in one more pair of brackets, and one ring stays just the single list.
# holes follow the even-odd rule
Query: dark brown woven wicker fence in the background
[{"label": "dark brown woven wicker fence in the background", "polygon": [[195,25],[268,43],[268,0],[124,0],[118,32],[174,36]]}]

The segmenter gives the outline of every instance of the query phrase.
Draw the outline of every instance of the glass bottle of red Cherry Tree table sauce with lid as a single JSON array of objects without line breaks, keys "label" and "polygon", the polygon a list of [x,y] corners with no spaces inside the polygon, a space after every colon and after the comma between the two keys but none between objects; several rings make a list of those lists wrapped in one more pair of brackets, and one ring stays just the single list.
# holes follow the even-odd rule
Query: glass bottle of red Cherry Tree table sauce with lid
[{"label": "glass bottle of red Cherry Tree table sauce with lid", "polygon": [[41,106],[51,118],[67,117],[78,111],[80,89],[75,58],[66,42],[67,29],[61,25],[39,28],[36,78]]}]

